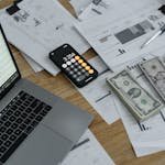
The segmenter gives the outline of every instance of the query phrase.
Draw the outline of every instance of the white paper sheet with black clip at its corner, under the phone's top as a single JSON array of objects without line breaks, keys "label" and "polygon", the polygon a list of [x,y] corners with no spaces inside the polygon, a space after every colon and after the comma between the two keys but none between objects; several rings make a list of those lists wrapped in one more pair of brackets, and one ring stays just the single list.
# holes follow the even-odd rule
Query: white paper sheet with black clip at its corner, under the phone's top
[{"label": "white paper sheet with black clip at its corner, under the phone's top", "polygon": [[21,10],[14,15],[0,15],[7,37],[52,75],[59,70],[48,58],[51,51],[64,43],[80,54],[89,48],[73,25],[77,20],[57,0],[23,0],[18,6]]}]

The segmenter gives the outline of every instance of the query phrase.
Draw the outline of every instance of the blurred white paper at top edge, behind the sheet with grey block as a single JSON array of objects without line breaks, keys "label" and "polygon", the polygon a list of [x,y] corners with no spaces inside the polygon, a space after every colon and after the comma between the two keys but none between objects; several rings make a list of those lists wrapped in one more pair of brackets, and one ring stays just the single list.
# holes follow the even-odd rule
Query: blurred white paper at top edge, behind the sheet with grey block
[{"label": "blurred white paper at top edge, behind the sheet with grey block", "polygon": [[[77,1],[79,2],[79,1]],[[129,13],[139,13],[142,10],[158,9],[160,2],[156,0],[101,0],[101,2],[96,6],[90,3],[80,14],[79,19],[81,21],[90,20],[97,16],[107,18],[107,15],[112,15],[112,19],[117,19],[121,15],[127,15]]]}]

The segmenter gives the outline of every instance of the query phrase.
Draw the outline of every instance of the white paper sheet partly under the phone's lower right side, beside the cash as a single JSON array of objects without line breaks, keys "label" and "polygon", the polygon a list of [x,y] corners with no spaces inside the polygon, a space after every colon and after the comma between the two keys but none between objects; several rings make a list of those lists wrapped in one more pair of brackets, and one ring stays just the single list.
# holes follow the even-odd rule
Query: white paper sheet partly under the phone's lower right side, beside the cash
[{"label": "white paper sheet partly under the phone's lower right side, beside the cash", "polygon": [[102,117],[102,119],[108,124],[111,124],[120,118],[114,102],[116,96],[106,82],[106,78],[111,72],[99,57],[94,57],[89,63],[98,70],[99,76],[86,87],[79,88],[78,91]]}]

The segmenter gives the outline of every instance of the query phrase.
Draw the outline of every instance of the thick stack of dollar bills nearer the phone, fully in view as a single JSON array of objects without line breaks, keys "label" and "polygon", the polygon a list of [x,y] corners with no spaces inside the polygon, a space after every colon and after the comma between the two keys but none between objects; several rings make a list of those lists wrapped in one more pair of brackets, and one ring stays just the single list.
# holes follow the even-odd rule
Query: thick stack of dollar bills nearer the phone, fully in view
[{"label": "thick stack of dollar bills nearer the phone, fully in view", "polygon": [[148,119],[164,107],[160,100],[142,88],[128,70],[107,78],[107,81],[138,121]]}]

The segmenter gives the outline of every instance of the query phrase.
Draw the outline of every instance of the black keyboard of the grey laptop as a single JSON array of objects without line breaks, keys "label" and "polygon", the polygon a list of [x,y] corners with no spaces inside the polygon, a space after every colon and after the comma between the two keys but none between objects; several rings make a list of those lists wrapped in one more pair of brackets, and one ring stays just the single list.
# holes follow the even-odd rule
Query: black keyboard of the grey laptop
[{"label": "black keyboard of the grey laptop", "polygon": [[0,113],[0,162],[4,163],[52,107],[21,91]]}]

